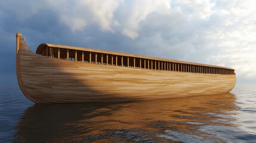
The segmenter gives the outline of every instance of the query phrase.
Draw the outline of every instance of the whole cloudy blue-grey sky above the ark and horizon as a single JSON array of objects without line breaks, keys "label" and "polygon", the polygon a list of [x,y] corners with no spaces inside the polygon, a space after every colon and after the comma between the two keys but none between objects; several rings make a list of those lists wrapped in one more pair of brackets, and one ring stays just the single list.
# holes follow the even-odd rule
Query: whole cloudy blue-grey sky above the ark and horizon
[{"label": "whole cloudy blue-grey sky above the ark and horizon", "polygon": [[0,0],[0,86],[16,86],[16,33],[81,46],[236,69],[256,83],[254,0]]}]

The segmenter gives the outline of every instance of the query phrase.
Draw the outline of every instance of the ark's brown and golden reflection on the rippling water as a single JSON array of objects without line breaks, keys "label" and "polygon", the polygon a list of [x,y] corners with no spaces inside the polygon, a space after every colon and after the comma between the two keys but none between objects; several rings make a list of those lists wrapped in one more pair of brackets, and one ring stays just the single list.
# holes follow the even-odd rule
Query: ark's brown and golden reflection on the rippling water
[{"label": "ark's brown and golden reflection on the rippling water", "polygon": [[242,135],[237,110],[233,94],[33,105],[18,122],[14,142],[233,142]]}]

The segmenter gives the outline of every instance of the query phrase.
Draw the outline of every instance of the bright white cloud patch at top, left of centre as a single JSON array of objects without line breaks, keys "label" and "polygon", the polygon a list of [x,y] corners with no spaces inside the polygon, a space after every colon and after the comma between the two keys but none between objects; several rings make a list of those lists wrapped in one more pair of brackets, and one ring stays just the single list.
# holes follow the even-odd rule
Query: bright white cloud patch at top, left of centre
[{"label": "bright white cloud patch at top, left of centre", "polygon": [[119,5],[119,1],[116,0],[47,0],[47,5],[60,15],[60,21],[66,24],[72,32],[85,30],[85,27],[90,24],[98,24],[101,30],[114,32],[113,26],[118,24],[113,19]]}]

